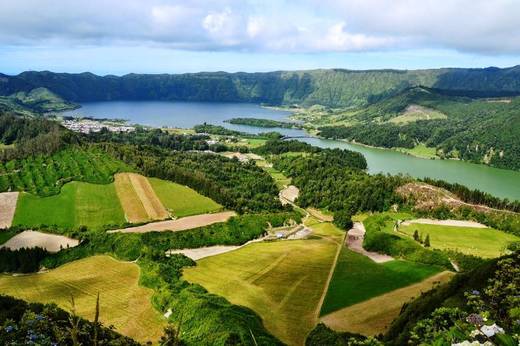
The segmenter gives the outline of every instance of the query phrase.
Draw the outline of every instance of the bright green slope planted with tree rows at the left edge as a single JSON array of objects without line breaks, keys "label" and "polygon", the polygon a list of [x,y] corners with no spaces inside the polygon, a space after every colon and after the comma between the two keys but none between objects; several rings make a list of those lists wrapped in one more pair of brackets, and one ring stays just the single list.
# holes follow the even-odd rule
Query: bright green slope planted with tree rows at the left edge
[{"label": "bright green slope planted with tree rows at the left edge", "polygon": [[72,146],[52,156],[0,162],[0,191],[26,191],[51,196],[72,180],[108,184],[114,173],[130,167],[95,148]]}]

